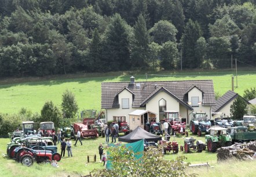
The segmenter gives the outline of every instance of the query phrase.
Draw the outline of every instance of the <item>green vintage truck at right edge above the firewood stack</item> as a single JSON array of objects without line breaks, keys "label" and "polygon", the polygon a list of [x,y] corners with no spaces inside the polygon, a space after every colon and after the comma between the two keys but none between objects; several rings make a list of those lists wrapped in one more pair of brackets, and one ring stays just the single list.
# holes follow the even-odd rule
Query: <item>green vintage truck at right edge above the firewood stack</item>
[{"label": "green vintage truck at right edge above the firewood stack", "polygon": [[232,143],[243,143],[256,140],[256,131],[248,131],[248,127],[244,126],[228,128],[228,134],[232,138]]}]

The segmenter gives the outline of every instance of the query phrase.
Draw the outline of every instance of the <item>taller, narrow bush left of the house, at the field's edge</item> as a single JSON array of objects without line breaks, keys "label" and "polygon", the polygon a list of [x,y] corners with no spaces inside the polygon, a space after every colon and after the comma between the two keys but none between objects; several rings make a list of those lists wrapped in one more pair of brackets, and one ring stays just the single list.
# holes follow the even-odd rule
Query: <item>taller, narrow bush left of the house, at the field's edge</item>
[{"label": "taller, narrow bush left of the house, at the field's edge", "polygon": [[63,117],[68,119],[74,118],[78,112],[78,104],[76,103],[75,95],[71,91],[66,90],[63,93],[61,108]]}]

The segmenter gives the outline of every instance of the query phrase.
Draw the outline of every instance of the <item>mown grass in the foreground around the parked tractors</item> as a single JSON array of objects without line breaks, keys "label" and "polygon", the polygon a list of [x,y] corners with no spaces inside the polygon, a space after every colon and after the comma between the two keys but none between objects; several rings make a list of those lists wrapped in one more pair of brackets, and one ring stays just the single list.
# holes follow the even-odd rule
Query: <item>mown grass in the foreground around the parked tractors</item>
[{"label": "mown grass in the foreground around the parked tractors", "polygon": [[[192,136],[192,134],[189,134]],[[184,145],[184,137],[177,135],[175,141],[180,145]],[[204,141],[204,137],[197,137],[195,139],[201,139]],[[173,139],[171,139],[173,140]],[[60,168],[53,168],[50,164],[36,164],[31,167],[25,167],[20,163],[16,163],[14,160],[10,160],[6,157],[0,158],[1,176],[20,176],[20,177],[32,177],[32,176],[83,176],[89,174],[93,169],[104,168],[103,164],[99,162],[98,156],[98,145],[100,142],[104,143],[104,138],[98,139],[83,139],[83,145],[81,146],[78,142],[78,146],[72,147],[73,157],[62,158],[58,163]],[[6,143],[9,142],[9,139],[2,138],[0,139],[0,153],[6,153]],[[74,141],[72,141],[74,144]],[[58,145],[60,149],[60,145]],[[96,163],[90,162],[87,163],[87,155],[96,154],[97,161]],[[178,154],[168,153],[164,156],[166,160],[175,159],[177,156],[185,156],[186,162],[191,164],[200,164],[200,163],[209,163],[211,167],[201,167],[201,168],[187,168],[186,172],[188,174],[198,174],[199,176],[255,176],[256,161],[247,161],[241,162],[236,160],[226,161],[224,163],[217,163],[217,153],[209,153],[207,150],[202,153],[191,152],[184,153],[178,152]],[[91,158],[90,160],[92,160]]]}]

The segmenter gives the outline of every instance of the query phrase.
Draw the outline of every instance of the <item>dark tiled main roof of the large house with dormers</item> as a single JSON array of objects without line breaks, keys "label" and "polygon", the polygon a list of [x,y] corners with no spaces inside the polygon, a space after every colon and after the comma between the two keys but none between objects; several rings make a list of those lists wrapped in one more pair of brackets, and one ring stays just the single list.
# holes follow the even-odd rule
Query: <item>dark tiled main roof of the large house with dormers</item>
[{"label": "dark tiled main roof of the large house with dormers", "polygon": [[[213,80],[182,80],[161,82],[103,82],[101,83],[101,108],[119,108],[118,94],[125,87],[134,93],[133,108],[139,108],[150,94],[159,87],[164,87],[175,97],[188,103],[188,93],[192,86],[203,91],[203,106],[215,105]],[[189,105],[188,105],[189,106]]]}]

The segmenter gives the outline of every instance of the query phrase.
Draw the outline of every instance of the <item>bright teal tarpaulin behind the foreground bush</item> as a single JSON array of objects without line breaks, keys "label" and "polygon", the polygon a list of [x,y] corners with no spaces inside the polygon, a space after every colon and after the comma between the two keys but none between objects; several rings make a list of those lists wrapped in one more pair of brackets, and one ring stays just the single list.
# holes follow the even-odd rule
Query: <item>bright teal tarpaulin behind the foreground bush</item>
[{"label": "bright teal tarpaulin behind the foreground bush", "polygon": [[[110,144],[109,146],[116,146],[114,144]],[[119,145],[120,146],[120,145]],[[129,150],[132,150],[135,154],[135,157],[141,158],[143,155],[143,150],[144,150],[144,140],[141,139],[141,141],[137,141],[137,142],[133,142],[133,143],[127,143],[125,144],[126,148],[128,148]],[[109,153],[107,152],[107,164],[106,164],[106,168],[107,169],[111,169],[112,168],[112,164],[111,164],[111,160],[109,160]]]}]

